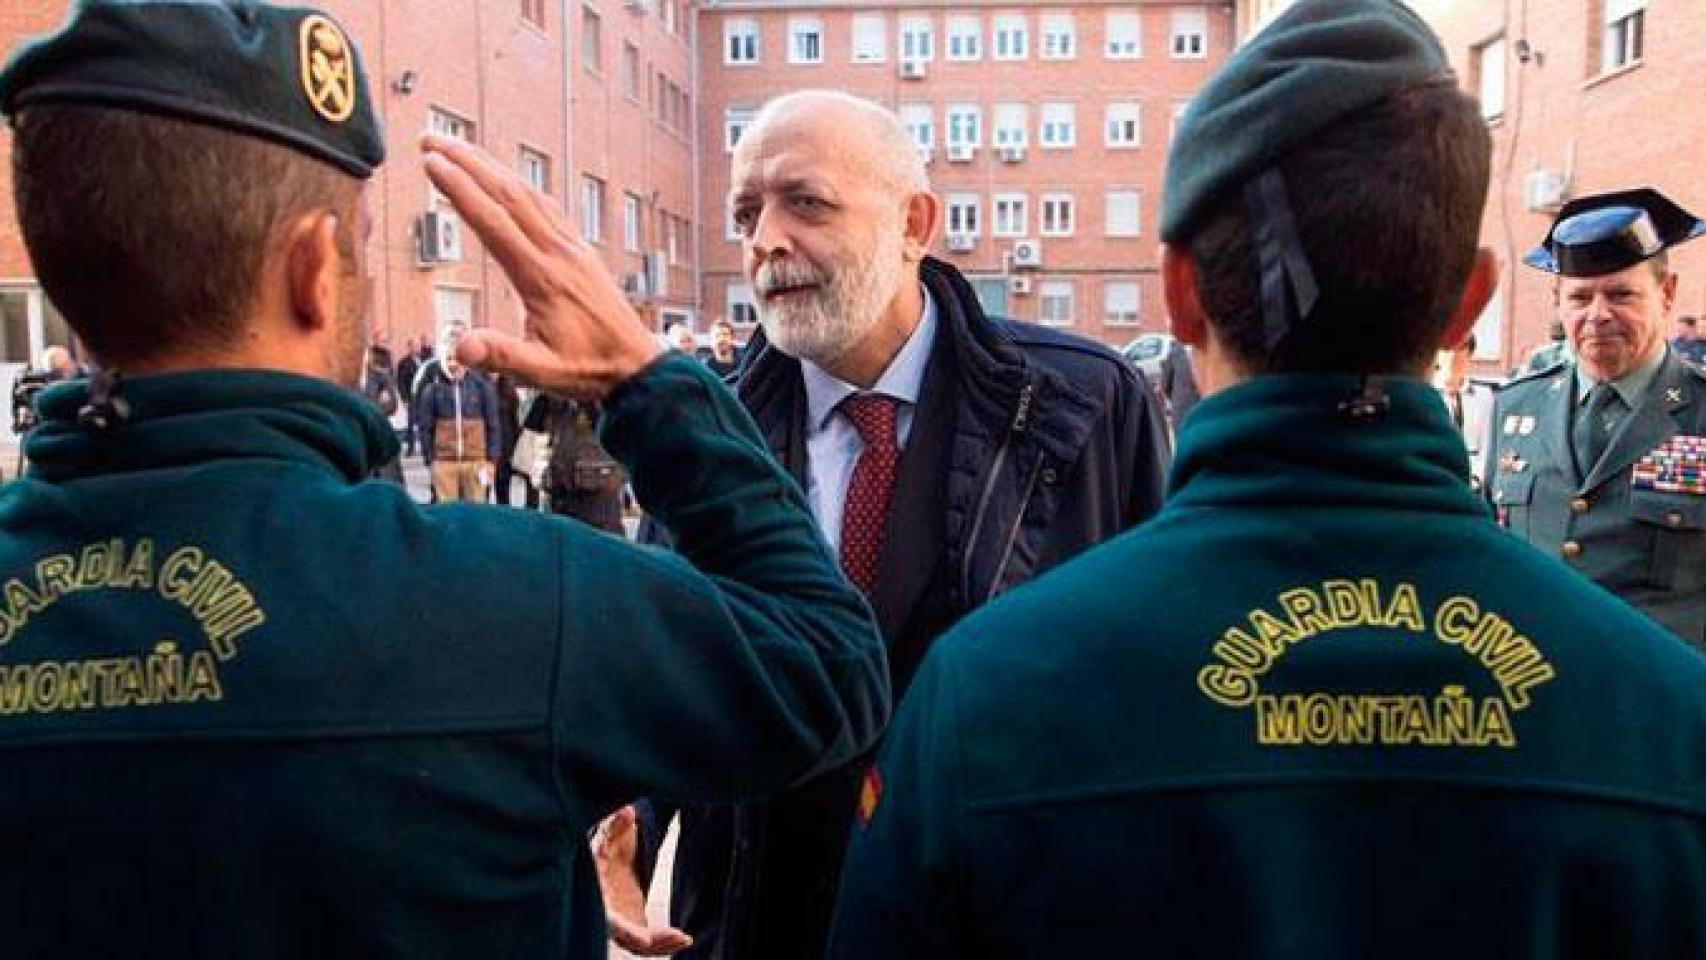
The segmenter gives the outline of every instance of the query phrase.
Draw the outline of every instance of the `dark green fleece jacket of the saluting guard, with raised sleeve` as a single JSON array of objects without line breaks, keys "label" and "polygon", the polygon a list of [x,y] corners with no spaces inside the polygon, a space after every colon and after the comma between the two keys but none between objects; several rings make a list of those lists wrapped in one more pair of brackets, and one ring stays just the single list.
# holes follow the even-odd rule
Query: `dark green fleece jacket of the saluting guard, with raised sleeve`
[{"label": "dark green fleece jacket of the saluting guard, with raised sleeve", "polygon": [[884,725],[863,600],[689,358],[604,435],[682,556],[360,483],[396,440],[317,380],[119,396],[102,435],[51,394],[0,493],[5,957],[604,957],[604,813]]}]

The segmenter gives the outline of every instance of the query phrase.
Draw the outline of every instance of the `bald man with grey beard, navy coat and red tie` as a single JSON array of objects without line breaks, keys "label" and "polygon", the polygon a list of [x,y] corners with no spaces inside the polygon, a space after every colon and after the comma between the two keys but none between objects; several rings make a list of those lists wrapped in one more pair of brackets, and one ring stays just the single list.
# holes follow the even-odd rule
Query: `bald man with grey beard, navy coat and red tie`
[{"label": "bald man with grey beard, navy coat and red tie", "polygon": [[[735,148],[730,206],[761,326],[737,394],[870,599],[896,697],[969,610],[1157,510],[1167,440],[1140,375],[986,317],[928,256],[942,201],[892,113],[771,101]],[[686,957],[822,953],[865,766],[682,812]]]}]

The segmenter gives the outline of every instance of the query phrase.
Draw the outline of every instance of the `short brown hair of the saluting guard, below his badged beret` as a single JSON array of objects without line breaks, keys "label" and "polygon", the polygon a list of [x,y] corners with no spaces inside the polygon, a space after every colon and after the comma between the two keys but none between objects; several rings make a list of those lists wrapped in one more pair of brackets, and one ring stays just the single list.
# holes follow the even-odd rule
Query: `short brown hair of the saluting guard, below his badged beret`
[{"label": "short brown hair of the saluting guard, below his badged beret", "polygon": [[12,176],[43,288],[109,365],[235,343],[266,249],[297,217],[336,211],[355,256],[358,179],[205,124],[32,106]]}]

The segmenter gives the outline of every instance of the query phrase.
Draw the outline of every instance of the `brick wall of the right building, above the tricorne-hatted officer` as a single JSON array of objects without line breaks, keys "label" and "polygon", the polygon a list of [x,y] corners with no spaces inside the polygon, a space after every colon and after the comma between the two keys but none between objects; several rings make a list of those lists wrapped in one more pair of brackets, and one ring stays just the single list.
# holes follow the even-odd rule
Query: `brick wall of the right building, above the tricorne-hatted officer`
[{"label": "brick wall of the right building, above the tricorne-hatted officer", "polygon": [[[1525,203],[1537,171],[1564,176],[1566,198],[1653,186],[1706,215],[1706,3],[1646,0],[1643,56],[1607,72],[1605,2],[1416,3],[1469,92],[1483,90],[1488,70],[1503,77],[1503,111],[1489,121],[1493,189],[1483,242],[1505,264],[1505,293],[1483,321],[1483,372],[1508,370],[1546,341],[1552,319],[1552,278],[1520,263],[1552,223],[1551,210]],[[1479,56],[1496,38],[1503,56]],[[1679,247],[1672,269],[1680,275],[1677,312],[1706,314],[1706,240]]]}]

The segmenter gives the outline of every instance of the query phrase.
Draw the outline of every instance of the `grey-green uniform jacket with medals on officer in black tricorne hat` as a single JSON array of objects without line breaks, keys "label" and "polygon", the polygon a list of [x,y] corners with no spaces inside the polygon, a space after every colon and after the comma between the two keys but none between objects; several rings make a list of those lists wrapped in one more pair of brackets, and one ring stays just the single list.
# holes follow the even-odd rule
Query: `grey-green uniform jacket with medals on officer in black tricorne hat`
[{"label": "grey-green uniform jacket with medals on officer in black tricorne hat", "polygon": [[[1570,442],[1573,370],[1515,380],[1493,402],[1483,477],[1498,520],[1706,648],[1706,372],[1667,355],[1641,406],[1581,476]],[[1692,493],[1638,488],[1643,459],[1691,469]]]}]

